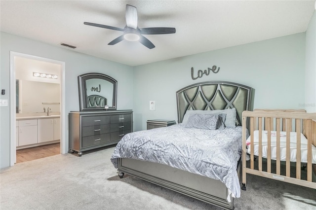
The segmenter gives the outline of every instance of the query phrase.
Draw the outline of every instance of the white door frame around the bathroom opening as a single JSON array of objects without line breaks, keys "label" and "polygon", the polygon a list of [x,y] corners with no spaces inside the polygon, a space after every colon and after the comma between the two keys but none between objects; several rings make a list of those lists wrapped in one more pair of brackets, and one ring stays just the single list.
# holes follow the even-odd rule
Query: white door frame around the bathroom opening
[{"label": "white door frame around the bathroom opening", "polygon": [[15,142],[15,126],[16,126],[16,88],[15,88],[15,60],[14,57],[19,56],[23,58],[44,61],[61,65],[60,78],[60,153],[66,154],[66,89],[65,89],[65,66],[63,61],[43,58],[34,55],[28,55],[19,52],[10,51],[10,166],[16,163],[16,142]]}]

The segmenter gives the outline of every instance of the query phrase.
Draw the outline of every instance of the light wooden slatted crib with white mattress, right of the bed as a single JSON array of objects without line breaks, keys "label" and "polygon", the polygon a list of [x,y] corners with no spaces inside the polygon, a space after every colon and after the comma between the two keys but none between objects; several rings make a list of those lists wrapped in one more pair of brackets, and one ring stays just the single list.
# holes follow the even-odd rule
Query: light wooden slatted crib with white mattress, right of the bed
[{"label": "light wooden slatted crib with white mattress, right of the bed", "polygon": [[255,109],[242,112],[242,125],[241,189],[247,173],[316,189],[316,113]]}]

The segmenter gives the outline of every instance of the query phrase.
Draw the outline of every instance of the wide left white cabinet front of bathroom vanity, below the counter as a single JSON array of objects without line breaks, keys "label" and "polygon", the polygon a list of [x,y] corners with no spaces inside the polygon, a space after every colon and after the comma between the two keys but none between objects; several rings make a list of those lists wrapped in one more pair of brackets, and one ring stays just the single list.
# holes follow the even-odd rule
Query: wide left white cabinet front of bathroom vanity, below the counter
[{"label": "wide left white cabinet front of bathroom vanity, below the counter", "polygon": [[38,142],[38,120],[19,120],[19,146]]}]

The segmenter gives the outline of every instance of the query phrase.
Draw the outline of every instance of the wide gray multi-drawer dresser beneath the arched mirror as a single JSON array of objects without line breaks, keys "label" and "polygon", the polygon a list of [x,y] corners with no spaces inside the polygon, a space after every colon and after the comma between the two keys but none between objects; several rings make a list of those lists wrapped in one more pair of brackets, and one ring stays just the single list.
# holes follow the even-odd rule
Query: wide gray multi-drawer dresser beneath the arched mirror
[{"label": "wide gray multi-drawer dresser beneath the arched mirror", "polygon": [[95,149],[118,143],[133,130],[133,111],[71,111],[69,113],[69,152]]}]

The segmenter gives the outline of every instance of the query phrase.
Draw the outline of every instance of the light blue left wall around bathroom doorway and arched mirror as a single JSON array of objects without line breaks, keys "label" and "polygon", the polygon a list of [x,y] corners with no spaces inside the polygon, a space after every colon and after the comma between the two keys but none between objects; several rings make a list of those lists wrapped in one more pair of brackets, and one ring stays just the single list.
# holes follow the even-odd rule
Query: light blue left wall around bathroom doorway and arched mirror
[{"label": "light blue left wall around bathroom doorway and arched mirror", "polygon": [[[118,80],[118,109],[133,109],[133,68],[130,66],[3,32],[0,34],[0,44],[0,89],[6,91],[1,99],[10,102],[10,51],[14,51],[66,63],[66,113],[79,111],[77,77],[87,72],[101,72]],[[0,168],[10,165],[10,129],[10,104],[0,106]],[[66,137],[68,149],[68,119]]]}]

